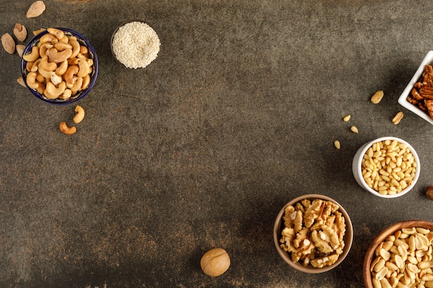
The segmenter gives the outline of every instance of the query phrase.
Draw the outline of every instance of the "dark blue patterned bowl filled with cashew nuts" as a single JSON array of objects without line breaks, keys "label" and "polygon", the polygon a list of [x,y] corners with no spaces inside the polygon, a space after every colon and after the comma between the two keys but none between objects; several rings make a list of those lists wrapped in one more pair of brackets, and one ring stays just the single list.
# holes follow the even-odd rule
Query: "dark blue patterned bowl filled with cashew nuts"
[{"label": "dark blue patterned bowl filled with cashew nuts", "polygon": [[24,83],[49,104],[86,96],[98,76],[98,57],[86,37],[68,28],[47,28],[31,39],[21,57]]}]

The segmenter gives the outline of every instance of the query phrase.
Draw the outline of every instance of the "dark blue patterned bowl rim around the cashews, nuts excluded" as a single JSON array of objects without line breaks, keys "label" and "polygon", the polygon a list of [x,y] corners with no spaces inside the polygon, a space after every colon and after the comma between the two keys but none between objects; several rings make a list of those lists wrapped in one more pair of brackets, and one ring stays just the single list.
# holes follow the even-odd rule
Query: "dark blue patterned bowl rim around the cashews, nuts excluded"
[{"label": "dark blue patterned bowl rim around the cashews, nuts excluded", "polygon": [[[91,73],[91,80],[90,80],[89,86],[87,86],[86,89],[81,90],[79,93],[71,96],[70,98],[68,98],[66,100],[60,99],[60,98],[48,99],[43,94],[38,93],[37,90],[28,87],[27,84],[26,84],[26,86],[27,86],[28,90],[30,90],[30,92],[33,95],[35,95],[35,97],[37,97],[38,99],[41,99],[42,101],[44,101],[46,103],[54,104],[54,105],[66,105],[66,104],[71,104],[73,102],[77,102],[78,100],[82,99],[84,96],[86,96],[90,92],[91,88],[95,84],[96,77],[98,77],[98,57],[96,56],[95,48],[93,48],[93,46],[91,46],[89,40],[86,39],[86,37],[81,35],[79,32],[77,32],[75,30],[68,29],[68,28],[56,28],[56,29],[62,30],[65,33],[65,35],[77,37],[77,41],[79,41],[82,46],[86,46],[86,48],[89,50],[89,58],[93,59],[93,71]],[[33,39],[31,39],[28,42],[26,48],[24,49],[23,55],[26,55],[28,52],[31,52],[33,46],[37,45],[39,43],[39,39],[41,39],[41,37],[46,35],[47,33],[48,33],[48,31],[45,30],[43,32],[40,32],[35,37],[33,37]],[[21,58],[21,74],[23,76],[24,83],[26,83],[26,78],[27,78],[27,74],[28,74],[28,71],[26,69],[26,64],[27,64],[27,61],[25,61],[24,59]]]}]

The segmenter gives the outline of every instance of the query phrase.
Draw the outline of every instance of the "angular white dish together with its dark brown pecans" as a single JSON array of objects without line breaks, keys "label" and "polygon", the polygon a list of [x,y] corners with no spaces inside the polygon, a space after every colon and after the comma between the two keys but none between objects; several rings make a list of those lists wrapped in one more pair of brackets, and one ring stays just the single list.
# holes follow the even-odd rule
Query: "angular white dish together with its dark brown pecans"
[{"label": "angular white dish together with its dark brown pecans", "polygon": [[427,52],[398,103],[433,124],[433,51]]}]

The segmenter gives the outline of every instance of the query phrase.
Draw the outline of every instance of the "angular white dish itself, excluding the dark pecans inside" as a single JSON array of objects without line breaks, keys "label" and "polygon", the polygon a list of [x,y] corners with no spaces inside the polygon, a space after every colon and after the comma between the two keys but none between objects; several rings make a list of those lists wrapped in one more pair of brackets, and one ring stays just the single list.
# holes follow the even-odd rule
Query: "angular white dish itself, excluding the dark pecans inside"
[{"label": "angular white dish itself, excluding the dark pecans inside", "polygon": [[403,90],[403,93],[401,93],[400,97],[398,97],[398,103],[405,107],[407,110],[412,111],[419,117],[425,119],[425,121],[430,122],[430,124],[433,124],[433,119],[428,115],[427,112],[422,111],[421,108],[418,106],[410,103],[407,101],[407,96],[410,95],[412,88],[414,88],[414,85],[416,82],[418,82],[421,75],[423,75],[425,65],[432,65],[433,64],[433,51],[427,52],[427,55],[425,55],[423,61],[421,62],[421,65],[418,67],[418,70],[416,70],[416,73],[414,74],[414,77],[409,81],[409,84],[407,84],[405,90]]}]

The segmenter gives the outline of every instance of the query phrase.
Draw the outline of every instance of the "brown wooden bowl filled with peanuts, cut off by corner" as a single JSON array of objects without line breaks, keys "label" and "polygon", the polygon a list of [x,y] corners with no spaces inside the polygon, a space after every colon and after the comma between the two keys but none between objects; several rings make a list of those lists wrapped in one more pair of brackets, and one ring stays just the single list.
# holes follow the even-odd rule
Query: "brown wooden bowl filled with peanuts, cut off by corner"
[{"label": "brown wooden bowl filled with peanuts, cut off by corner", "polygon": [[408,220],[387,227],[365,253],[365,287],[433,287],[433,223]]}]

